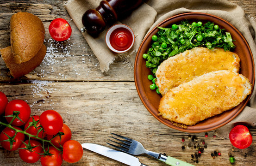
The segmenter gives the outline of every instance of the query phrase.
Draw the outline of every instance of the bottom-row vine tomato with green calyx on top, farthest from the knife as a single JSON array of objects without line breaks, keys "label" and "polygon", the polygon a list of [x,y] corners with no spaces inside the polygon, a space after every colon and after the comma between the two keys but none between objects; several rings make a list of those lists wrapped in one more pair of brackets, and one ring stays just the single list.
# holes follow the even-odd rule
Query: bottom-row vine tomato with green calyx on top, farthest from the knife
[{"label": "bottom-row vine tomato with green calyx on top, farthest from the knife", "polygon": [[[25,141],[25,143],[28,145],[28,140]],[[40,159],[40,154],[43,153],[43,148],[41,147],[41,143],[36,140],[30,140],[32,152],[28,149],[19,149],[19,157],[27,162],[27,163],[35,163]],[[23,143],[19,148],[27,148],[26,145]]]}]

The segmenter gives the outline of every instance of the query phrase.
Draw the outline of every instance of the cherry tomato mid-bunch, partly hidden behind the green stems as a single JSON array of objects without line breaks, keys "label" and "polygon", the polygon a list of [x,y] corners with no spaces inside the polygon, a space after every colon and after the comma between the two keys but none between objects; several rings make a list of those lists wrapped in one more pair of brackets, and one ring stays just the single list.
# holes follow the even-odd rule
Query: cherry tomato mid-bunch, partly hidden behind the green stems
[{"label": "cherry tomato mid-bunch, partly hidden behind the green stems", "polygon": [[[39,120],[39,116],[38,116],[38,115],[35,115],[35,116],[32,116],[32,117],[34,118],[34,121]],[[30,118],[28,119],[27,123],[25,124],[24,130],[29,126],[29,123],[33,121],[33,118],[32,118],[32,117],[30,117]],[[37,122],[37,125],[36,125],[36,126],[37,126],[37,128],[36,128],[35,126],[30,126],[30,127],[26,130],[26,132],[29,133],[29,134],[32,134],[32,135],[36,136],[36,135],[37,135],[37,131],[41,128],[41,127],[39,127],[39,126],[40,126],[39,121]],[[44,137],[46,136],[46,133],[44,132],[44,136],[43,136],[43,130],[42,130],[42,131],[40,131],[40,132],[38,133],[37,136],[39,136],[40,138],[44,138]],[[36,138],[34,138],[34,137],[31,137],[31,138],[36,139]]]}]

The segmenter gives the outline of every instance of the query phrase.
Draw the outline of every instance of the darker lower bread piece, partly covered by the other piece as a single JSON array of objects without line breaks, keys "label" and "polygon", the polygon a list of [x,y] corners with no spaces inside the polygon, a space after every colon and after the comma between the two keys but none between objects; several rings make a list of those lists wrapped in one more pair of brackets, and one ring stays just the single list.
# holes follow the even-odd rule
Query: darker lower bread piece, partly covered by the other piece
[{"label": "darker lower bread piece, partly covered by the other piece", "polygon": [[14,78],[18,78],[24,76],[25,74],[28,74],[29,72],[34,70],[38,65],[40,65],[46,54],[46,47],[43,44],[33,58],[21,64],[16,64],[14,62],[11,46],[0,49],[0,54],[2,59],[5,61],[6,66],[11,71],[11,75]]}]

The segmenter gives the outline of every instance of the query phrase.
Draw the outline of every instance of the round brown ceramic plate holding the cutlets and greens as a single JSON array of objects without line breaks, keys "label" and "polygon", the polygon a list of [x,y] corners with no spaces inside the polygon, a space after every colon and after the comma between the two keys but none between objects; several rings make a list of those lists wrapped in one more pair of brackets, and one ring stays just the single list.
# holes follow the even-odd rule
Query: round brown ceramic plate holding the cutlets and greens
[{"label": "round brown ceramic plate holding the cutlets and greens", "polygon": [[[223,20],[222,18],[213,16],[211,14],[206,13],[197,13],[197,12],[189,12],[176,15],[174,17],[168,18],[164,20],[162,23],[157,26],[160,27],[170,27],[172,24],[180,24],[182,20],[186,20],[189,23],[201,21],[205,24],[208,21],[211,21],[215,24],[219,25],[219,28],[225,29],[227,32],[231,33],[231,36],[234,40],[234,44],[237,46],[234,50],[235,53],[240,57],[240,74],[243,74],[245,77],[249,78],[250,82],[254,85],[255,82],[255,72],[254,72],[254,62],[252,58],[252,53],[250,47],[245,40],[244,36],[230,23]],[[222,114],[216,115],[212,118],[201,121],[200,123],[194,126],[188,126],[187,129],[183,129],[177,127],[172,124],[171,121],[167,119],[163,119],[161,116],[158,116],[158,106],[160,102],[161,95],[156,94],[155,90],[150,90],[149,86],[152,84],[150,80],[148,80],[147,76],[152,74],[150,69],[145,66],[145,59],[143,59],[143,53],[147,53],[148,49],[151,47],[152,41],[151,37],[156,34],[158,28],[155,27],[150,33],[144,38],[141,46],[137,52],[137,57],[135,60],[134,66],[134,78],[135,85],[137,88],[138,95],[143,102],[144,106],[148,109],[148,111],[160,122],[164,125],[167,125],[173,129],[181,130],[185,132],[205,132],[209,130],[217,129],[232,119],[234,119],[239,113],[241,113],[248,103],[250,99],[250,95],[240,103],[237,107],[226,111]],[[253,88],[253,87],[252,87]]]}]

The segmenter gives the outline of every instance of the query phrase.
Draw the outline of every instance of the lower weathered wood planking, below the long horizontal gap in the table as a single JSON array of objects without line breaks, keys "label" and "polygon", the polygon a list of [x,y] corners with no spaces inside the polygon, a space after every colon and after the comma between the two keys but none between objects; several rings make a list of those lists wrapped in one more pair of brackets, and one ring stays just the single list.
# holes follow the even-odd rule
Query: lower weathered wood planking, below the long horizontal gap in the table
[{"label": "lower weathered wood planking, below the long horizontal gap in the table", "polygon": [[[199,143],[202,146],[204,140],[208,147],[199,158],[197,166],[203,166],[206,163],[211,166],[228,166],[230,165],[229,152],[235,156],[236,166],[250,166],[255,163],[255,140],[249,148],[235,148],[235,151],[232,152],[231,148],[233,147],[230,141],[214,138],[213,131],[208,132],[209,136],[206,138],[205,133],[184,133],[161,124],[143,106],[137,96],[134,83],[54,82],[44,86],[39,93],[35,93],[33,90],[35,88],[31,88],[31,85],[34,86],[34,84],[4,85],[0,86],[0,91],[8,96],[9,101],[13,99],[27,100],[32,106],[32,115],[39,115],[48,109],[58,111],[62,115],[64,123],[72,130],[72,139],[81,143],[92,142],[106,145],[109,133],[114,132],[140,141],[149,150],[166,153],[194,163],[190,158],[196,150],[188,146],[182,150],[181,146],[188,145],[188,143],[192,143],[193,146]],[[44,89],[50,91],[50,98],[45,97],[49,94],[44,92]],[[37,103],[35,103],[36,101]],[[256,129],[251,129],[251,133],[255,137]],[[193,143],[191,139],[188,139],[189,135],[196,136],[198,139]],[[181,142],[182,137],[185,138],[185,142]],[[214,150],[219,150],[222,155],[212,159],[211,153]],[[247,153],[246,157],[244,153]],[[25,165],[19,159],[17,151],[8,152],[0,148],[0,156],[0,165],[6,165],[6,163]],[[141,162],[150,166],[165,165],[146,155],[137,157]],[[39,162],[36,165],[39,165]],[[63,165],[69,164],[64,162]],[[76,165],[110,166],[121,164],[85,150],[82,160]]]}]

